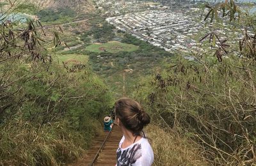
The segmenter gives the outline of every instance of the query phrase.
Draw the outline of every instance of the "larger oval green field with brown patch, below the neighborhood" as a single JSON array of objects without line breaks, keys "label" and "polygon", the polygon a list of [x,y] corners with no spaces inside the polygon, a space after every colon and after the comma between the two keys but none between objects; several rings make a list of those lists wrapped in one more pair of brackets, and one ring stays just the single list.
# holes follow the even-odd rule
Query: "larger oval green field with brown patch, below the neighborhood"
[{"label": "larger oval green field with brown patch, below the neighborhood", "polygon": [[138,46],[127,44],[127,43],[121,43],[119,41],[109,41],[108,43],[95,43],[93,45],[89,45],[86,47],[85,50],[91,51],[91,52],[132,52],[135,50],[138,50]]}]

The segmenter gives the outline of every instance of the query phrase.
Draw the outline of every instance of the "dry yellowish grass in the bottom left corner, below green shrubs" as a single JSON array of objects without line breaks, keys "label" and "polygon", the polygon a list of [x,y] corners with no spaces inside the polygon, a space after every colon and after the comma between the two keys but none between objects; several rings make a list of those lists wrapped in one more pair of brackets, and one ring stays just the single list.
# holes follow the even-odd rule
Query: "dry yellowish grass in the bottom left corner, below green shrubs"
[{"label": "dry yellowish grass in the bottom left corner, below green shrubs", "polygon": [[0,165],[60,165],[80,156],[82,137],[63,123],[35,127],[16,119],[1,128]]}]

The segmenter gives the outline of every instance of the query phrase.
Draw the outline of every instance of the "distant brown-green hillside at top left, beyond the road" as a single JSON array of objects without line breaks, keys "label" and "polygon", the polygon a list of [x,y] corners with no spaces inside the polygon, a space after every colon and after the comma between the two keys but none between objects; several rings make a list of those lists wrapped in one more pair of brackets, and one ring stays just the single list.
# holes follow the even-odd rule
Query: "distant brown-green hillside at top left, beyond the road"
[{"label": "distant brown-green hillside at top left, beyond the road", "polygon": [[39,19],[42,23],[63,24],[72,22],[73,20],[88,19],[90,13],[95,12],[95,6],[91,0],[57,0],[57,1],[15,1],[14,5],[1,4],[3,9],[8,10],[12,6],[10,12],[24,13],[30,19]]}]

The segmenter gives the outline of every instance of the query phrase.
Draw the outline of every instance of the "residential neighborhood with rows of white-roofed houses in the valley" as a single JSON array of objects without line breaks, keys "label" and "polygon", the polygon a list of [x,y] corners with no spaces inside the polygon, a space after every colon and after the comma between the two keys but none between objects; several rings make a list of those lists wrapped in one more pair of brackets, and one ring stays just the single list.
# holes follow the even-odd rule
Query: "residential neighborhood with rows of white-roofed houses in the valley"
[{"label": "residential neighborhood with rows of white-roofed houses in the valley", "polygon": [[[113,15],[109,15],[112,17],[106,19],[110,24],[166,51],[182,50],[183,52],[188,52],[188,50],[202,50],[202,48],[197,47],[200,45],[198,43],[198,34],[204,35],[211,31],[220,35],[221,39],[224,39],[227,34],[232,34],[237,40],[241,38],[241,36],[237,36],[238,33],[227,27],[225,22],[212,22],[205,27],[205,22],[199,18],[199,12],[203,11],[200,11],[200,8],[196,8],[195,3],[191,4],[188,1],[186,1],[186,4],[190,5],[189,10],[188,8],[180,8],[179,10],[174,8],[174,4],[177,6],[177,1],[166,1],[164,3],[166,6],[157,2],[114,2],[110,0],[100,0],[98,4],[102,5],[103,2],[108,7],[112,5],[111,9],[115,8]],[[145,6],[140,8],[141,4],[147,4],[148,6],[147,8]],[[122,13],[124,8],[126,13]],[[212,26],[212,24],[219,24],[219,26],[216,29],[216,26]]]}]

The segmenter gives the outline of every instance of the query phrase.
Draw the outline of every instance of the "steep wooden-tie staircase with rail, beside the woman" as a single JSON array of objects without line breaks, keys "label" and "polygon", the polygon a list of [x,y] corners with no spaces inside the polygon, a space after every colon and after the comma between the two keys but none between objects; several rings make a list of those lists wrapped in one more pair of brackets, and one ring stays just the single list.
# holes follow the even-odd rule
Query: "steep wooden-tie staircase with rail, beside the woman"
[{"label": "steep wooden-tie staircase with rail, beside the woman", "polygon": [[[106,142],[103,144],[105,139]],[[114,166],[116,164],[116,149],[118,148],[118,144],[121,139],[122,132],[118,126],[114,125],[110,133],[105,132],[104,135],[95,138],[92,142],[92,148],[88,151],[84,158],[79,160],[77,163],[73,163],[72,166],[90,165],[93,162],[95,156],[97,156],[98,152],[99,156],[93,165]],[[103,148],[99,151],[100,147]]]}]

